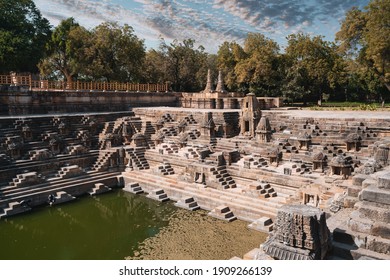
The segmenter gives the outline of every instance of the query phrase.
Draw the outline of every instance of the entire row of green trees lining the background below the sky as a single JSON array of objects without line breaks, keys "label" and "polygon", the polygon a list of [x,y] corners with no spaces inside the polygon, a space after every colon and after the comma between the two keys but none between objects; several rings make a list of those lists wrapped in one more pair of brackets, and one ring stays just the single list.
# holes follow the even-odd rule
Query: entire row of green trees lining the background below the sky
[{"label": "entire row of green trees lining the background below the sky", "polygon": [[[296,33],[283,51],[261,33],[243,44],[223,42],[209,54],[191,38],[145,49],[129,25],[104,22],[86,29],[73,18],[54,29],[32,0],[0,0],[0,73],[43,78],[166,83],[200,91],[210,69],[222,71],[229,91],[283,96],[290,101],[384,100],[390,91],[390,0],[371,0],[345,15],[335,42]],[[38,66],[38,67],[37,67]]]}]

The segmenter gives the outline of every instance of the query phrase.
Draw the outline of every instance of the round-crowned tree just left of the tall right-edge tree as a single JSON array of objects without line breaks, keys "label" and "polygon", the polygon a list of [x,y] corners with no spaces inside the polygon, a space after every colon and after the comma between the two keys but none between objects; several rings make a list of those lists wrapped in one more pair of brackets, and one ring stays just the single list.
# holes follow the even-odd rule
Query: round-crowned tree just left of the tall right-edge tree
[{"label": "round-crowned tree just left of the tall right-edge tree", "polygon": [[320,103],[323,94],[330,94],[344,74],[336,46],[321,36],[311,38],[302,33],[292,34],[287,39],[284,94],[305,103],[314,100]]}]

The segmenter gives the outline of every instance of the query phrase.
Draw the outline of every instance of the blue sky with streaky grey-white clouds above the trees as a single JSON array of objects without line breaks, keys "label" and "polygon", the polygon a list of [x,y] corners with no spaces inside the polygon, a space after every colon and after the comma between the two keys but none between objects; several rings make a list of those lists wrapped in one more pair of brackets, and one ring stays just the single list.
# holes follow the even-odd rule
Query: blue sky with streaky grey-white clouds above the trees
[{"label": "blue sky with streaky grey-white clouds above the trees", "polygon": [[53,26],[74,17],[92,29],[105,21],[128,24],[158,48],[166,42],[194,39],[209,53],[224,41],[242,44],[249,32],[262,33],[283,49],[286,37],[304,32],[333,41],[345,13],[369,0],[34,0]]}]

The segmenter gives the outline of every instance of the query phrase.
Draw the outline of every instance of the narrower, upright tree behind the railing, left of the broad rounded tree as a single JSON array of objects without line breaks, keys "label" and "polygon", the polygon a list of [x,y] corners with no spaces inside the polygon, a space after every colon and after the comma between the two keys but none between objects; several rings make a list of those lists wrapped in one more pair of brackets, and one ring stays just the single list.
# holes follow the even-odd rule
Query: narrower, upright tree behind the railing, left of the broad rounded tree
[{"label": "narrower, upright tree behind the railing, left of the broad rounded tree", "polygon": [[68,84],[77,77],[85,65],[80,63],[89,32],[74,18],[68,18],[54,29],[46,45],[48,56],[39,63],[42,75],[48,78],[63,78]]}]

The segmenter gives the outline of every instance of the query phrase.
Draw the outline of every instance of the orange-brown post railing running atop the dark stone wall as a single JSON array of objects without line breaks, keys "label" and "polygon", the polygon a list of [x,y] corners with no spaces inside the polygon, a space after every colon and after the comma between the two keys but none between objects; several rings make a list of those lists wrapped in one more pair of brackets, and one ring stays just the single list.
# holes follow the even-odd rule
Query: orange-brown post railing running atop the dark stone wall
[{"label": "orange-brown post railing running atop the dark stone wall", "polygon": [[30,90],[167,92],[165,84],[34,80],[31,76],[0,75],[0,85],[28,86]]}]

